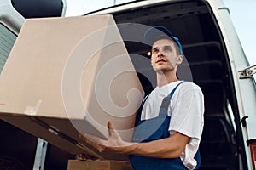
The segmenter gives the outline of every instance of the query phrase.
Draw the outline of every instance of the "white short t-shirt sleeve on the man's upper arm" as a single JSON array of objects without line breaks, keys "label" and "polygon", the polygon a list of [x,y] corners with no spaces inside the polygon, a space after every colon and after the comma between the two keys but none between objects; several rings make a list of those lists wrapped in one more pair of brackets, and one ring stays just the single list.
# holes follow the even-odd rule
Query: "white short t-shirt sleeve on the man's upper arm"
[{"label": "white short t-shirt sleeve on the man's upper arm", "polygon": [[182,88],[171,105],[169,131],[183,133],[190,138],[201,139],[204,124],[204,97],[201,88]]}]

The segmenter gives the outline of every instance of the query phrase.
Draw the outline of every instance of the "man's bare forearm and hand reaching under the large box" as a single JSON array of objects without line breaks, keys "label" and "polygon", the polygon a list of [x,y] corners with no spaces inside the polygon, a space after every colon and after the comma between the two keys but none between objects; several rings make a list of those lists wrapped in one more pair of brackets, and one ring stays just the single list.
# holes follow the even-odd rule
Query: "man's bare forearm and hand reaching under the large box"
[{"label": "man's bare forearm and hand reaching under the large box", "polygon": [[120,138],[112,122],[108,122],[108,129],[110,132],[108,140],[100,139],[90,134],[81,134],[79,138],[100,152],[115,152],[158,158],[177,158],[182,154],[186,144],[189,143],[188,136],[177,132],[166,139],[158,139],[148,143],[130,143]]}]

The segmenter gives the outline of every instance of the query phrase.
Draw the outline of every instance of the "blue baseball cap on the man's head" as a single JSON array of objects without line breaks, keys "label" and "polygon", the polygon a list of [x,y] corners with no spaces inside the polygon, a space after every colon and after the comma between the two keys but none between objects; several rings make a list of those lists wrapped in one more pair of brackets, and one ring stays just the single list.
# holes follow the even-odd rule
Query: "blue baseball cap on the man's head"
[{"label": "blue baseball cap on the man's head", "polygon": [[181,43],[178,41],[177,37],[172,35],[172,32],[169,31],[165,26],[154,26],[148,29],[144,33],[144,41],[149,45],[152,46],[154,42],[160,39],[170,39],[176,42],[177,47],[180,49],[180,53],[183,54],[183,47]]}]

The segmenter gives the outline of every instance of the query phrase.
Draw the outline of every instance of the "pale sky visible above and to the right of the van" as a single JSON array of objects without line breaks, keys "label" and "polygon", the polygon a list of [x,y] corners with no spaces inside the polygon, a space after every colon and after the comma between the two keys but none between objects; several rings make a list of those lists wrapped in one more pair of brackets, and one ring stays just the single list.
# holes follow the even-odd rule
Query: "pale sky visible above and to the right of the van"
[{"label": "pale sky visible above and to the right of the van", "polygon": [[[77,16],[131,0],[66,0],[66,16]],[[251,65],[256,65],[256,0],[223,0]]]}]

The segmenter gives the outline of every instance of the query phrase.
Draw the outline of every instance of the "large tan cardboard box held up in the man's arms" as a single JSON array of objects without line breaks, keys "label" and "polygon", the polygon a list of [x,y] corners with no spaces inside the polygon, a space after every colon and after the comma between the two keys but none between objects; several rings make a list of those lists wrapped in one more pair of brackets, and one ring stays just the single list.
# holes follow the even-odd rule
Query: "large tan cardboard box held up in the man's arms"
[{"label": "large tan cardboard box held up in the man's arms", "polygon": [[112,15],[29,19],[0,76],[0,118],[72,154],[79,133],[130,141],[143,88]]}]

